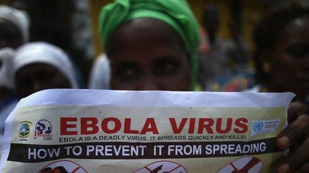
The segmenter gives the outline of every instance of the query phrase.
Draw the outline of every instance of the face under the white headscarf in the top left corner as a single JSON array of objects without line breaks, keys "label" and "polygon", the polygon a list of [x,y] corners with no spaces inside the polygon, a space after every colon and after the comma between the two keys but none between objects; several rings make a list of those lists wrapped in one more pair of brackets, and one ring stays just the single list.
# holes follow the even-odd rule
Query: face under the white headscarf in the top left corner
[{"label": "face under the white headscarf in the top left corner", "polygon": [[11,22],[0,18],[0,48],[16,49],[23,43],[21,32]]}]

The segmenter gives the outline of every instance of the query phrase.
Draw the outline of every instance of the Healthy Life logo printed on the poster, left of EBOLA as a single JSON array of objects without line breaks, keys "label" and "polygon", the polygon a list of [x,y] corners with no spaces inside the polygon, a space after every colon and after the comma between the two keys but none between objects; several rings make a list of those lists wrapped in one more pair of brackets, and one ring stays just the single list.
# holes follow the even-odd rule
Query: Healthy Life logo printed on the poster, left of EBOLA
[{"label": "Healthy Life logo printed on the poster, left of EBOLA", "polygon": [[40,120],[35,126],[34,138],[43,138],[44,140],[52,140],[52,125],[48,120]]}]

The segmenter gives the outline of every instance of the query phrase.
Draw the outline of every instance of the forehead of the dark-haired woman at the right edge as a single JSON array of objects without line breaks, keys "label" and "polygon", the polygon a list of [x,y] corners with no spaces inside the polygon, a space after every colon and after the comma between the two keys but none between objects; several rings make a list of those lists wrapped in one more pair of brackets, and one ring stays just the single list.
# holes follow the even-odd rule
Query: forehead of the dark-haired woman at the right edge
[{"label": "forehead of the dark-haired woman at the right edge", "polygon": [[280,42],[309,44],[309,17],[296,18],[279,35]]}]

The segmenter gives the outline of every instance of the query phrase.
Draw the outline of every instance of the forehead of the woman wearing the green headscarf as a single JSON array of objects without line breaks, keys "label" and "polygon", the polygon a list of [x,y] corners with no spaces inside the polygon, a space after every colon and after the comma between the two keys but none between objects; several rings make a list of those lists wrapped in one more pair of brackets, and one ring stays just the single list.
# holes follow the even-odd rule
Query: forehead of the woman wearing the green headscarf
[{"label": "forehead of the woman wearing the green headscarf", "polygon": [[168,24],[150,18],[129,21],[110,37],[111,58],[121,56],[161,56],[183,53],[182,39]]}]

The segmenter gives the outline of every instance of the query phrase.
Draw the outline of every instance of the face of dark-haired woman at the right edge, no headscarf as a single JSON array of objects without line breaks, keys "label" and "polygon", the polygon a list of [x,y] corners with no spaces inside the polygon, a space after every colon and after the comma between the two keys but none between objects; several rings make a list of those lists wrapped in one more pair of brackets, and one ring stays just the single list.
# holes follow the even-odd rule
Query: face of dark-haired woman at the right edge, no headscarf
[{"label": "face of dark-haired woman at the right edge, no headscarf", "polygon": [[269,82],[303,99],[309,94],[309,18],[292,21],[270,58]]}]

